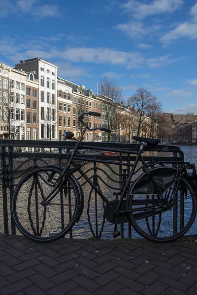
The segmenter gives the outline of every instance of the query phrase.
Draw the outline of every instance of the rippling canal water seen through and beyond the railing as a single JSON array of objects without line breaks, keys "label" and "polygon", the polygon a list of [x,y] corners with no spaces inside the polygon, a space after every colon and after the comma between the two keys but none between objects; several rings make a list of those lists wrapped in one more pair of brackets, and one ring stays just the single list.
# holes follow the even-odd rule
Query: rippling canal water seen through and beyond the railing
[{"label": "rippling canal water seen through and beyond the railing", "polygon": [[[197,166],[197,146],[180,146],[181,150],[184,152],[184,157],[186,161],[190,161],[191,163],[195,162],[196,166]],[[146,152],[144,153],[144,155],[156,155],[155,153],[150,153],[150,152]],[[160,155],[162,156],[170,156],[169,153],[160,153]],[[114,182],[113,180],[117,181],[118,180],[118,176],[115,175],[111,169],[109,169],[108,167],[106,167],[105,165],[101,164],[101,163],[97,163],[97,167],[99,168],[98,170],[98,175],[100,177],[99,180],[99,185],[100,188],[103,192],[104,195],[107,196],[108,200],[114,200],[114,196],[113,196],[113,192],[116,191],[115,188],[119,187],[118,182]],[[115,171],[115,173],[119,172],[119,167],[118,165],[112,165],[111,168]],[[92,169],[92,170],[91,170]],[[87,175],[89,177],[91,177],[93,175],[93,164],[92,163],[88,163],[84,166],[84,171],[88,171],[90,170]],[[108,176],[108,177],[107,177]],[[105,184],[102,182],[105,181]],[[83,183],[83,180],[80,179],[80,183]],[[111,188],[108,188],[106,186],[107,185],[111,186]],[[103,222],[103,203],[102,200],[100,199],[99,196],[97,196],[97,215],[98,215],[98,219],[96,219],[96,215],[95,215],[95,193],[94,191],[92,192],[92,195],[90,196],[90,186],[89,184],[85,184],[83,185],[83,191],[84,191],[84,198],[85,198],[85,202],[84,202],[84,210],[82,213],[82,216],[80,218],[80,221],[75,224],[75,226],[73,227],[73,232],[72,235],[74,238],[88,238],[88,237],[92,237],[93,234],[90,230],[90,224],[91,223],[91,227],[92,230],[94,231],[94,233],[96,234],[97,231],[97,223],[98,223],[98,233],[100,232],[100,230],[102,229],[102,222]],[[24,192],[26,193],[26,192]],[[9,197],[8,197],[8,207],[9,207]],[[87,214],[87,211],[89,211],[89,214]],[[2,208],[2,193],[0,190],[0,233],[3,232],[3,208]],[[88,217],[89,215],[89,217]],[[10,214],[9,214],[10,216]],[[10,226],[10,224],[9,224]],[[108,221],[105,220],[104,225],[103,225],[103,229],[102,229],[102,235],[101,238],[104,239],[111,239],[112,238],[112,232],[114,231],[114,225],[109,223]],[[19,234],[17,232],[17,234]],[[195,221],[195,223],[193,224],[193,226],[191,227],[191,229],[188,231],[187,235],[190,234],[197,234],[197,219]],[[131,230],[131,235],[133,238],[138,238],[140,237],[133,229]],[[124,225],[124,236],[128,237],[128,224]],[[69,234],[66,236],[69,237]]]}]

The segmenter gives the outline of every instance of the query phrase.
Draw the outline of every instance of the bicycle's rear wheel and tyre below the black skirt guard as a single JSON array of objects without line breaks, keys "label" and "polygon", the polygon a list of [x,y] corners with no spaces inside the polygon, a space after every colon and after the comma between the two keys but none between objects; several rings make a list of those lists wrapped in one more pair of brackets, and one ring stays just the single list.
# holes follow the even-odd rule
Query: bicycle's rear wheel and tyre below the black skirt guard
[{"label": "bicycle's rear wheel and tyre below the black skirt guard", "polygon": [[[172,188],[173,184],[167,189],[167,191]],[[137,206],[139,206],[139,204],[137,205],[139,199],[144,200],[144,204],[146,203],[146,200],[149,200],[149,205],[152,202],[150,202],[150,200],[157,200],[159,203],[156,195],[135,195],[132,194],[131,191],[127,199],[128,210],[136,209]],[[149,213],[147,214],[146,210],[149,205],[145,204],[144,210],[128,214],[134,230],[140,236],[153,242],[172,242],[187,233],[195,221],[197,214],[197,195],[195,193],[195,188],[188,177],[182,176],[176,199],[170,209],[154,212],[149,209]],[[178,216],[178,213],[180,216]],[[186,219],[188,220],[187,222]],[[156,222],[158,222],[157,228]],[[169,226],[170,228],[166,229],[166,226]]]}]

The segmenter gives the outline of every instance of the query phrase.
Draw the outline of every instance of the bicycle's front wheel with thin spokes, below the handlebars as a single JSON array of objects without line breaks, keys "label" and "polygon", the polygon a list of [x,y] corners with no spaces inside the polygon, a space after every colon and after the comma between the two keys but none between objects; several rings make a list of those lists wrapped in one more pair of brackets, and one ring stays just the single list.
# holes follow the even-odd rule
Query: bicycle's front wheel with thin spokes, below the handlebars
[{"label": "bicycle's front wheel with thin spokes, below the handlebars", "polygon": [[40,167],[25,175],[14,191],[12,211],[18,230],[34,241],[49,242],[65,236],[79,213],[80,195],[72,177],[64,178],[63,188],[47,202],[62,169]]}]

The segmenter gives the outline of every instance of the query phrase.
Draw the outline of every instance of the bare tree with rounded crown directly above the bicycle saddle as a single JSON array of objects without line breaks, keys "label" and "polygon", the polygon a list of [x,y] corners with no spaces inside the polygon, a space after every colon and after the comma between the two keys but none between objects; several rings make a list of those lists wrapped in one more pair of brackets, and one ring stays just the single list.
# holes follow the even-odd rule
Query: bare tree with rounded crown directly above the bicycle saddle
[{"label": "bare tree with rounded crown directly above the bicycle saddle", "polygon": [[140,132],[145,131],[150,105],[156,101],[156,97],[146,89],[139,88],[129,99],[130,104],[136,109],[135,117],[137,118],[137,136]]}]

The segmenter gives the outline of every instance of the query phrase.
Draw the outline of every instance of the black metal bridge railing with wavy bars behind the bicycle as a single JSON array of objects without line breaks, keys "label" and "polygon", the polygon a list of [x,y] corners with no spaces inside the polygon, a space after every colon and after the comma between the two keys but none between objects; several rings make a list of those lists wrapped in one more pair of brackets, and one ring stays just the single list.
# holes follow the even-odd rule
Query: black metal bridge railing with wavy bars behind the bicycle
[{"label": "black metal bridge railing with wavy bars behind the bicycle", "polygon": [[[0,140],[0,233],[18,234],[11,212],[13,192],[19,179],[28,170],[37,166],[55,164],[65,166],[74,141],[20,141]],[[138,144],[84,142],[80,149],[89,153],[77,154],[76,161],[80,161],[83,171],[94,183],[109,196],[110,200],[118,199],[130,173],[131,163],[135,156],[132,151],[139,149]],[[28,150],[37,148],[58,148],[58,153],[15,151],[16,147]],[[107,151],[107,155],[102,152]],[[166,154],[167,153],[167,154]],[[184,154],[175,146],[159,145],[149,149],[144,148],[143,158],[147,162],[183,161]],[[107,160],[107,162],[106,162]],[[80,175],[76,177],[81,183],[85,195],[85,206],[78,224],[69,232],[70,237],[104,237],[111,238],[113,224],[105,220],[103,215],[104,203],[92,187]],[[131,224],[120,224],[121,237],[131,238]],[[132,234],[133,236],[133,234]]]}]

